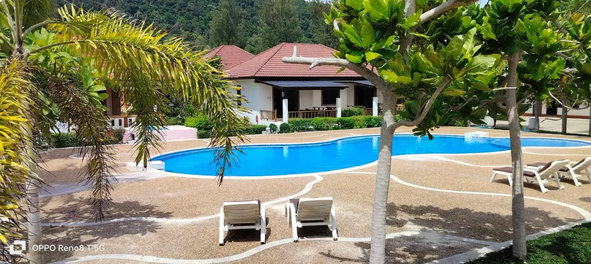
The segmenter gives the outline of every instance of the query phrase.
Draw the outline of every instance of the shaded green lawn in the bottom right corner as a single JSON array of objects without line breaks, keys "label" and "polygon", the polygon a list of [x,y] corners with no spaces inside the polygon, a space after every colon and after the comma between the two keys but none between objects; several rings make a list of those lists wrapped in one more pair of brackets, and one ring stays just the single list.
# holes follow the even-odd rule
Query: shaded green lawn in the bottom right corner
[{"label": "shaded green lawn in the bottom right corner", "polygon": [[591,223],[527,242],[527,262],[514,259],[512,248],[491,252],[466,264],[590,264]]}]

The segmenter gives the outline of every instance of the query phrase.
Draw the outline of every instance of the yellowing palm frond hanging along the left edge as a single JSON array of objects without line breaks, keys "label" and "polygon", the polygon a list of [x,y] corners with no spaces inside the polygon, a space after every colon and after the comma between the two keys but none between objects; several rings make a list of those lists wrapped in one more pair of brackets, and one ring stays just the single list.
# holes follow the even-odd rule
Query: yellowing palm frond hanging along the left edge
[{"label": "yellowing palm frond hanging along the left edge", "polygon": [[18,218],[22,204],[27,202],[25,184],[39,180],[33,171],[34,140],[28,133],[35,94],[29,68],[26,61],[14,58],[0,65],[0,217],[8,219],[0,221],[0,242],[4,244],[22,237],[23,225]]}]

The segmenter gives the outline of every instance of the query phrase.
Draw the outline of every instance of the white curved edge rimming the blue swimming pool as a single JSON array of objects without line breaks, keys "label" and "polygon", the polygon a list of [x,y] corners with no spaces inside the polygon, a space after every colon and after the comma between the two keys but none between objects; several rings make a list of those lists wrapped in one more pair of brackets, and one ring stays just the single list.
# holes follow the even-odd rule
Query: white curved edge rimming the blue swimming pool
[{"label": "white curved edge rimming the blue swimming pool", "polygon": [[[413,133],[396,133],[394,135],[409,135],[414,136]],[[432,134],[433,136],[447,136],[447,137],[465,137],[458,134]],[[253,143],[253,144],[241,144],[239,147],[243,146],[302,146],[306,144],[320,144],[320,143],[330,143],[333,141],[343,140],[347,138],[356,138],[356,137],[375,137],[380,136],[380,134],[364,134],[364,135],[356,135],[356,136],[346,136],[346,137],[337,137],[330,140],[322,140],[322,141],[313,141],[313,142],[306,142],[306,143]],[[484,138],[508,138],[508,137],[484,137]],[[559,137],[522,137],[522,138],[550,138],[555,140],[569,140],[569,141],[579,141],[583,143],[589,144],[589,146],[577,146],[577,147],[522,147],[521,149],[529,149],[529,148],[538,148],[538,149],[583,149],[591,147],[591,141],[587,140],[580,140],[580,139],[571,139],[571,138],[559,138]],[[173,150],[168,151],[165,153],[161,153],[155,156],[150,157],[150,160],[155,159],[160,156],[165,156],[168,154],[179,153],[183,151],[193,151],[193,150],[202,150],[202,149],[209,149],[209,147],[196,147],[193,149],[184,149],[184,150]],[[400,158],[400,157],[428,157],[428,156],[467,156],[467,155],[484,155],[484,154],[499,154],[499,153],[509,153],[511,150],[501,150],[501,151],[491,151],[491,152],[482,152],[482,153],[423,153],[423,154],[401,154],[401,155],[392,155],[392,158]],[[299,174],[281,174],[281,175],[268,175],[268,176],[224,176],[224,179],[228,180],[260,180],[260,179],[279,179],[279,178],[291,178],[291,177],[310,177],[315,175],[326,175],[326,174],[335,174],[335,173],[343,173],[346,171],[352,170],[359,170],[365,169],[366,167],[375,166],[378,164],[378,160],[372,161],[367,164],[362,164],[359,166],[348,167],[345,169],[339,170],[329,170],[329,171],[320,171],[316,173],[299,173]],[[212,175],[199,175],[199,174],[186,174],[186,173],[176,173],[170,171],[163,171],[163,170],[156,170],[156,169],[147,169],[151,173],[161,174],[165,176],[173,176],[173,177],[184,177],[184,178],[195,178],[195,179],[216,179],[217,176]]]}]

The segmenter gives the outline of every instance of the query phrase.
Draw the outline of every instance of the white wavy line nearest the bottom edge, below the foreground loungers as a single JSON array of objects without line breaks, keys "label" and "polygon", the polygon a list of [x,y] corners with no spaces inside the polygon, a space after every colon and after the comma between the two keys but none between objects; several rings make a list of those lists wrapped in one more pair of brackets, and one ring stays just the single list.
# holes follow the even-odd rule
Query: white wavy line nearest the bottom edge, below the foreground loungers
[{"label": "white wavy line nearest the bottom edge, below the foreground loungers", "polygon": [[[499,243],[483,241],[483,240],[476,240],[476,239],[468,239],[465,237],[459,236],[451,236],[451,235],[443,235],[439,233],[432,233],[432,232],[399,232],[399,233],[389,233],[386,235],[387,239],[392,239],[401,236],[419,236],[426,240],[434,240],[434,239],[448,239],[448,240],[457,240],[466,243],[476,243],[480,245],[487,245],[487,246],[496,246]],[[308,238],[301,238],[300,243],[306,240],[327,240],[332,241],[332,237],[308,237]],[[337,242],[371,242],[371,237],[339,237]],[[230,262],[234,260],[243,259],[256,253],[261,252],[262,250],[273,248],[274,246],[284,245],[287,243],[293,243],[293,239],[286,238],[281,240],[275,240],[265,245],[256,246],[255,248],[246,250],[245,252],[238,253],[232,256],[225,256],[220,258],[212,258],[212,259],[171,259],[171,258],[159,258],[155,256],[145,256],[145,255],[135,255],[135,254],[106,254],[106,255],[93,255],[93,256],[83,256],[79,258],[69,258],[64,259],[56,262],[51,262],[50,264],[68,264],[68,263],[76,263],[76,262],[83,262],[89,260],[100,260],[100,259],[125,259],[125,260],[137,260],[142,262],[149,262],[149,263],[159,263],[159,264],[215,264],[215,263],[223,263],[223,262]]]}]

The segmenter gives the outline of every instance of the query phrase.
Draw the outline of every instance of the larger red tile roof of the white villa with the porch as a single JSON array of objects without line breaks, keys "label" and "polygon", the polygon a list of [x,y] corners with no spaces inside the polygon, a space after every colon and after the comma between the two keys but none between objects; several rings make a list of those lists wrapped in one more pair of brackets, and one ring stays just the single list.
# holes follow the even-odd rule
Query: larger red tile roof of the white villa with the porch
[{"label": "larger red tile roof of the white villa with the porch", "polygon": [[302,57],[334,57],[335,49],[322,44],[281,43],[269,48],[232,68],[226,70],[230,78],[253,77],[360,77],[351,70],[344,70],[337,74],[338,66],[318,66],[310,69],[309,65],[288,64],[281,61],[283,57],[293,54],[297,46],[297,55]]}]

